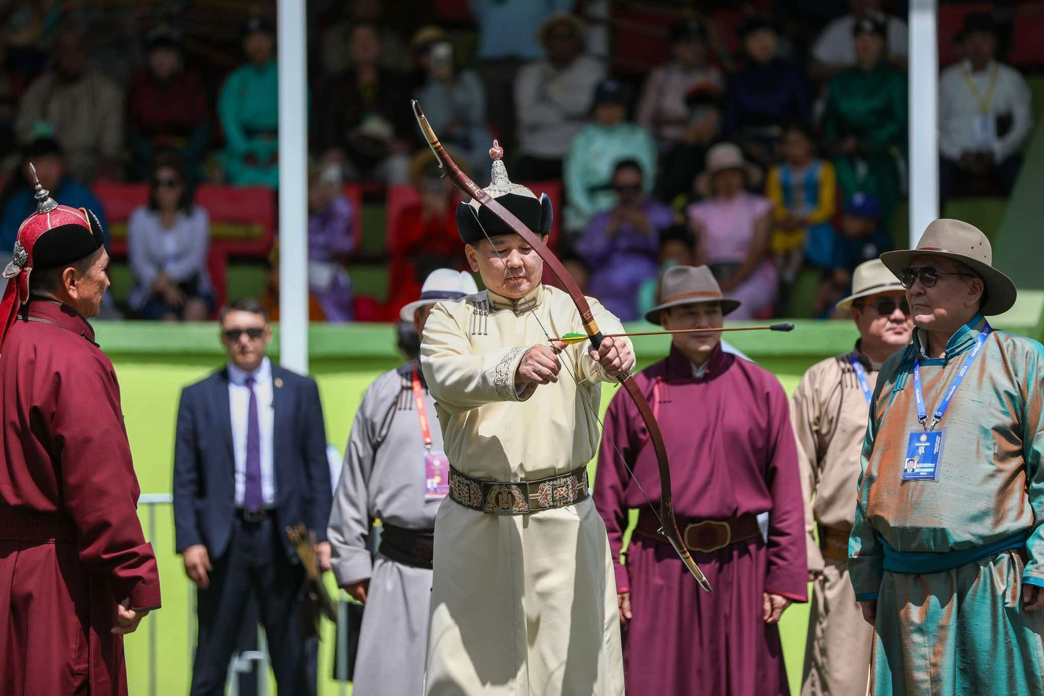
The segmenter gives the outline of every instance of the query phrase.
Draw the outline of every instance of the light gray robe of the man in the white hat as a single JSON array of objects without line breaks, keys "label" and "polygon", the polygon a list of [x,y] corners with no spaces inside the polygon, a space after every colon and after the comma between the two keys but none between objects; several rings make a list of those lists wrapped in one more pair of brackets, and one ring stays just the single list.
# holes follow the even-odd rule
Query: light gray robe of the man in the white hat
[{"label": "light gray robe of the man in the white hat", "polygon": [[[370,578],[356,658],[356,696],[418,696],[424,691],[431,571],[377,554],[366,537],[379,519],[432,529],[441,501],[424,499],[424,439],[413,405],[413,363],[384,373],[366,389],[345,450],[330,512],[333,573],[338,585]],[[423,376],[421,377],[423,381]],[[433,449],[443,449],[435,404],[425,388]]]}]

